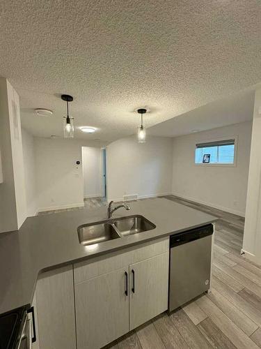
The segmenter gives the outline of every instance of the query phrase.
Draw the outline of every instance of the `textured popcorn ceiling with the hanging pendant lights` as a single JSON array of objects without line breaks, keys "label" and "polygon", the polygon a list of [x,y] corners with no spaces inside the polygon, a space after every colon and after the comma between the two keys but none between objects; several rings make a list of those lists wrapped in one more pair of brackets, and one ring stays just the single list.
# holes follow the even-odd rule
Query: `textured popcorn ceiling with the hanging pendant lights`
[{"label": "textured popcorn ceiling with the hanging pendant lights", "polygon": [[[76,126],[116,140],[261,81],[261,8],[253,0],[0,2],[0,75],[17,89],[22,124],[61,135],[72,94]],[[35,107],[54,110],[36,117]]]}]

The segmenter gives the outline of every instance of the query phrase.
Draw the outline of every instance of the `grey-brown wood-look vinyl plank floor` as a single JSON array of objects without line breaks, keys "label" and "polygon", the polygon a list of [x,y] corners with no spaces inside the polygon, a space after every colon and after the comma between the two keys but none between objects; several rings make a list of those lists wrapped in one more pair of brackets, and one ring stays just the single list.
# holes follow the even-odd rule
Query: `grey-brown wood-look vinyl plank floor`
[{"label": "grey-brown wood-look vinyl plank floor", "polygon": [[[164,198],[219,217],[212,265],[213,291],[171,315],[159,315],[104,348],[261,348],[261,267],[240,255],[244,218],[174,195]],[[104,198],[86,199],[84,204],[87,209],[107,205]]]}]

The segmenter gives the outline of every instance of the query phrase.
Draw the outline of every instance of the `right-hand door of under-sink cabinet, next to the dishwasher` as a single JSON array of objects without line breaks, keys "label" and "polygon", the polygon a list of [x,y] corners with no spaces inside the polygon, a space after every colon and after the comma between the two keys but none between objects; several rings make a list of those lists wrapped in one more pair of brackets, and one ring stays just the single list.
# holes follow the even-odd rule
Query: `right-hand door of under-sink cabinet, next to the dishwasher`
[{"label": "right-hand door of under-sink cabinet, next to the dishwasher", "polygon": [[168,252],[129,266],[129,330],[168,309]]}]

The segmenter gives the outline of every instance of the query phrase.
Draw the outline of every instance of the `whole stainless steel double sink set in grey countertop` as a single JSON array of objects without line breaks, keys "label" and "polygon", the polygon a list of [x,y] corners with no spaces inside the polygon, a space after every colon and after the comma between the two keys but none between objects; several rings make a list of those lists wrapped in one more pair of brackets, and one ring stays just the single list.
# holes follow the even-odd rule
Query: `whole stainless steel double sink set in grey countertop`
[{"label": "whole stainless steel double sink set in grey countertop", "polygon": [[155,228],[147,218],[134,215],[80,225],[77,231],[80,244],[93,245]]}]

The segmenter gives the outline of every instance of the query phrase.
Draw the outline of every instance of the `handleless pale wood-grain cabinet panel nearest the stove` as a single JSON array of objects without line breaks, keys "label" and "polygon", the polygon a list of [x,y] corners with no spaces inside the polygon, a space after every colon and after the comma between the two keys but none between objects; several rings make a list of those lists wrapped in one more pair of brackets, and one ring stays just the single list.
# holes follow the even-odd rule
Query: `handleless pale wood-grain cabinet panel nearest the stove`
[{"label": "handleless pale wood-grain cabinet panel nearest the stove", "polygon": [[72,265],[40,275],[36,303],[40,349],[76,349]]}]

